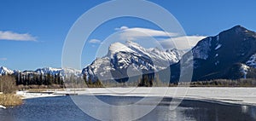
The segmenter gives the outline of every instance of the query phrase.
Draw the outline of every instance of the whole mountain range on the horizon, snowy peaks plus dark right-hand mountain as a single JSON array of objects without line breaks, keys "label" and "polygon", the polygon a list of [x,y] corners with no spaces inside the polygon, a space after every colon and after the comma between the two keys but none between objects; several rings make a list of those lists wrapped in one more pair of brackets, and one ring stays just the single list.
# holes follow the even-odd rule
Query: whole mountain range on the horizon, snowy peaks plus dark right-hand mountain
[{"label": "whole mountain range on the horizon, snowy peaks plus dark right-hand mountain", "polygon": [[[189,54],[193,55],[190,64],[194,66],[192,81],[256,78],[256,33],[242,26],[234,26],[217,36],[206,37],[187,53],[177,49],[145,49],[138,43],[127,41],[112,43],[107,55],[97,58],[82,71],[45,67],[25,72],[60,76],[86,75],[92,79],[108,80],[171,69],[171,82],[177,82],[181,76],[180,60],[188,62],[186,58]],[[17,72],[20,71],[0,67],[0,75]]]}]

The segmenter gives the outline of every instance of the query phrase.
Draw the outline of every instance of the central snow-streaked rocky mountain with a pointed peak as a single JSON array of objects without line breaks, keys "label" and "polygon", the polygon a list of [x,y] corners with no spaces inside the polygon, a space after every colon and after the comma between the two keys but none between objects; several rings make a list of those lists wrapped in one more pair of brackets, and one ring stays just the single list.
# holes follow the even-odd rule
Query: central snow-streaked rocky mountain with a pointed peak
[{"label": "central snow-streaked rocky mountain with a pointed peak", "polygon": [[180,58],[177,49],[145,49],[131,41],[112,43],[108,55],[94,60],[82,73],[91,78],[113,79],[114,75],[119,75],[116,78],[125,78],[128,68],[135,72],[157,72],[177,63]]}]

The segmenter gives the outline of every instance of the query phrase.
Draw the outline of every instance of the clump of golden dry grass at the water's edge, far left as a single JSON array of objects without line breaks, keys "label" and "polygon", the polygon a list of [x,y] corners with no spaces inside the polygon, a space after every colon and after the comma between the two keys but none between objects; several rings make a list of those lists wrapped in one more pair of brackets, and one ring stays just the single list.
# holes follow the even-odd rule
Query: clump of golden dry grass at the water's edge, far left
[{"label": "clump of golden dry grass at the water's edge, far left", "polygon": [[15,94],[0,94],[0,105],[4,107],[14,107],[22,104],[20,96]]}]

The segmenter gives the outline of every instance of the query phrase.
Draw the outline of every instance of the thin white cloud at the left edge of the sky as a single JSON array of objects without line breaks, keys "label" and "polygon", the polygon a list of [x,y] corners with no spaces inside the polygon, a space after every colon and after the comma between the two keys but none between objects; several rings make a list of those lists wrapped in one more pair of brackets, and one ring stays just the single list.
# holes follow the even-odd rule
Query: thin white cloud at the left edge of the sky
[{"label": "thin white cloud at the left edge of the sky", "polygon": [[10,31],[0,31],[0,40],[12,40],[12,41],[37,41],[36,37],[28,33],[16,33]]}]

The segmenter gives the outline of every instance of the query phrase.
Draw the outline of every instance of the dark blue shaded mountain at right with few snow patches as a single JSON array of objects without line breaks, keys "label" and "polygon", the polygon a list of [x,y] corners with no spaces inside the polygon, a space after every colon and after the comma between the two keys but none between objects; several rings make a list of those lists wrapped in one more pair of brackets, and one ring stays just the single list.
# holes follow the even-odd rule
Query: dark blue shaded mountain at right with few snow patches
[{"label": "dark blue shaded mountain at right with few snow patches", "polygon": [[[194,57],[193,81],[256,78],[256,33],[242,26],[202,39],[189,53]],[[171,66],[171,81],[178,80],[179,66]]]}]

